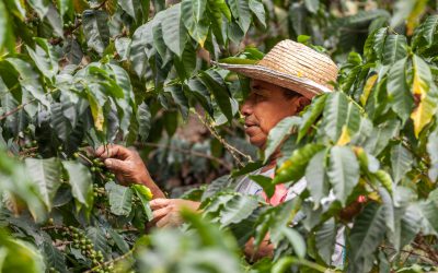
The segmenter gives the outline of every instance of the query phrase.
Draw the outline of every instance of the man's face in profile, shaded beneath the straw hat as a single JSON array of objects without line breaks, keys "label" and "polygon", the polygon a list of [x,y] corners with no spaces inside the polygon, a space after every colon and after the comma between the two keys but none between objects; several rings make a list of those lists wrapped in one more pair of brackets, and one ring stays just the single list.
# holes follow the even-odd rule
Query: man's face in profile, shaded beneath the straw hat
[{"label": "man's face in profile, shaded beneath the straw hat", "polygon": [[251,92],[241,107],[245,117],[245,133],[250,136],[251,144],[264,149],[270,129],[281,119],[296,115],[309,102],[298,93],[286,97],[284,88],[252,80]]}]

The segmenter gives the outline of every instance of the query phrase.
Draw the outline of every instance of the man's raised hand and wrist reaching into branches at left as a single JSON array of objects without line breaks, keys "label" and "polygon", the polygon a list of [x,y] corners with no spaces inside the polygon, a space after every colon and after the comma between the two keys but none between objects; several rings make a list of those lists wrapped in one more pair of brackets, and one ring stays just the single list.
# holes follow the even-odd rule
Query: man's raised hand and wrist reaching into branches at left
[{"label": "man's raised hand and wrist reaching into branches at left", "polygon": [[142,183],[150,188],[154,198],[164,197],[163,192],[153,182],[140,155],[122,145],[110,144],[100,146],[95,156],[104,161],[106,168],[112,170],[123,185]]}]

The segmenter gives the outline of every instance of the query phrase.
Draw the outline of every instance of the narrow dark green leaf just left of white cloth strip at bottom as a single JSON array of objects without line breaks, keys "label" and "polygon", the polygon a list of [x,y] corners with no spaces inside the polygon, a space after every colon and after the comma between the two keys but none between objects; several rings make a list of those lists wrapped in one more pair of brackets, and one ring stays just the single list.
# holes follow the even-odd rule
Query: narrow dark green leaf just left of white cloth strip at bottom
[{"label": "narrow dark green leaf just left of white cloth strip at bottom", "polygon": [[336,223],[333,217],[322,224],[315,233],[318,253],[326,264],[332,264],[336,246]]}]

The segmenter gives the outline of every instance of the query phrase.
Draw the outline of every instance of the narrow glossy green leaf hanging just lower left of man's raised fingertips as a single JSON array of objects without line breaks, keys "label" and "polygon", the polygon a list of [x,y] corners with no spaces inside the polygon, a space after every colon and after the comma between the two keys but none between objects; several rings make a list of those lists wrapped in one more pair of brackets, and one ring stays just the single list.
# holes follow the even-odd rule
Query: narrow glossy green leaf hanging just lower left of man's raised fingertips
[{"label": "narrow glossy green leaf hanging just lower left of man's raised fingertips", "polygon": [[93,183],[90,171],[78,162],[62,162],[62,165],[68,173],[74,200],[87,209],[91,209],[93,205]]}]

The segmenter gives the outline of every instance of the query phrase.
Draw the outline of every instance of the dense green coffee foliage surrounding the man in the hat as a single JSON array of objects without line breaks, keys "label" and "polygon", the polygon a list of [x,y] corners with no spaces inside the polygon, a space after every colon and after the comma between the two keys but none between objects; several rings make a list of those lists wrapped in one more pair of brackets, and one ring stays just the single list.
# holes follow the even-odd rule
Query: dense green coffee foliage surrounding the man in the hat
[{"label": "dense green coffee foliage surrounding the man in the hat", "polygon": [[[436,10],[425,0],[0,0],[0,269],[437,271]],[[284,38],[331,55],[339,75],[270,131],[256,159],[235,122],[249,81],[210,60],[255,63]],[[178,140],[191,117],[210,139]],[[182,227],[151,229],[150,190],[118,183],[93,156],[113,143],[138,147],[166,189],[187,161],[198,183],[232,171],[182,194],[203,211],[183,211]],[[253,175],[277,149],[275,177]],[[308,185],[270,206],[234,192],[245,175],[268,195]],[[255,250],[265,238],[273,258],[244,258],[247,241]]]}]

